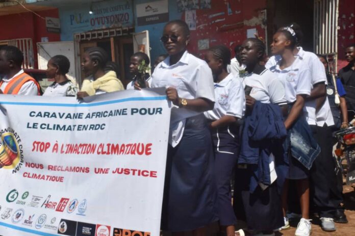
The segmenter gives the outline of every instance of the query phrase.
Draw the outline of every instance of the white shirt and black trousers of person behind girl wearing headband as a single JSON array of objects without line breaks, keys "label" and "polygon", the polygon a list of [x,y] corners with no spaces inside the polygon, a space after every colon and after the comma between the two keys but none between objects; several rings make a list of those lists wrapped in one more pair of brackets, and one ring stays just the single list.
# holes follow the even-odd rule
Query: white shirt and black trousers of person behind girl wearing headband
[{"label": "white shirt and black trousers of person behind girl wearing headband", "polygon": [[[325,68],[316,54],[298,47],[295,62],[300,64],[300,69],[307,68],[310,70],[311,79],[309,83],[312,86],[311,88],[320,82],[327,84]],[[310,199],[316,205],[320,217],[333,218],[336,209],[342,202],[342,194],[337,188],[336,163],[332,155],[332,127],[334,126],[332,110],[327,97],[318,112],[316,112],[315,100],[306,102],[304,108],[307,123],[310,125],[313,137],[321,150],[309,172],[311,181]]]}]

